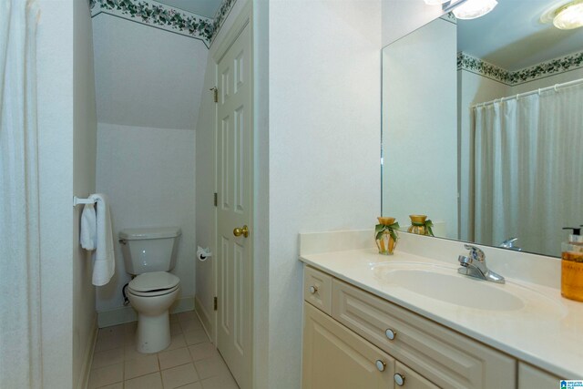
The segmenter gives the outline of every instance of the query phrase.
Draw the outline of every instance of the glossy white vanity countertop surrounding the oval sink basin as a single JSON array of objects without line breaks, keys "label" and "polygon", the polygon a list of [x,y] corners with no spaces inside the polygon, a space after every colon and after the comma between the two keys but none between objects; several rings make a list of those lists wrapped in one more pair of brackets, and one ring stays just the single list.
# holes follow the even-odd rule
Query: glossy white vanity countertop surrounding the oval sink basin
[{"label": "glossy white vanity countertop surrounding the oval sink basin", "polygon": [[376,249],[361,249],[303,254],[300,260],[560,378],[583,379],[583,302],[564,299],[555,288],[507,277],[503,285],[490,282],[495,288],[518,291],[525,306],[515,311],[487,311],[442,302],[383,281],[378,275],[383,267],[379,264],[388,263],[391,269],[424,263],[466,278],[457,274],[455,259],[435,261],[402,251],[384,256]]}]

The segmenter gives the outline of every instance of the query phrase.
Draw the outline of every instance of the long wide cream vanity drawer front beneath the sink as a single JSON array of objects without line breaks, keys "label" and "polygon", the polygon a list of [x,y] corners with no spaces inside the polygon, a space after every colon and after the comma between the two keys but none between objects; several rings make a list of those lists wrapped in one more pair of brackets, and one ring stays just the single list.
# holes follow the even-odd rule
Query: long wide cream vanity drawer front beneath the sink
[{"label": "long wide cream vanity drawer front beneath the sink", "polygon": [[332,317],[438,386],[515,387],[513,358],[347,283],[332,291]]}]

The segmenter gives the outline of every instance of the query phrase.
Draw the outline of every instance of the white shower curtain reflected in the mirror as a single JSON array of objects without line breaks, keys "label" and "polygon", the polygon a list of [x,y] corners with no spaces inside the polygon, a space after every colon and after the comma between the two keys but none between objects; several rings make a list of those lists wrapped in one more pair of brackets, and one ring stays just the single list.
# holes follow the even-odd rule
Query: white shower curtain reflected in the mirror
[{"label": "white shower curtain reflected in the mirror", "polygon": [[583,224],[583,84],[475,107],[475,241],[560,255]]}]

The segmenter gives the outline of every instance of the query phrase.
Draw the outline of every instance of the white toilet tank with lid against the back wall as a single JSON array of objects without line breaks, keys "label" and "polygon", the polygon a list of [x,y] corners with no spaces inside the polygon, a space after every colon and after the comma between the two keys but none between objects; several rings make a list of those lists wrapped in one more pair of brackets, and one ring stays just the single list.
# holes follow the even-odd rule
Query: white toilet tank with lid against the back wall
[{"label": "white toilet tank with lid against the back wall", "polygon": [[120,230],[126,271],[141,274],[174,269],[181,233],[179,227]]}]

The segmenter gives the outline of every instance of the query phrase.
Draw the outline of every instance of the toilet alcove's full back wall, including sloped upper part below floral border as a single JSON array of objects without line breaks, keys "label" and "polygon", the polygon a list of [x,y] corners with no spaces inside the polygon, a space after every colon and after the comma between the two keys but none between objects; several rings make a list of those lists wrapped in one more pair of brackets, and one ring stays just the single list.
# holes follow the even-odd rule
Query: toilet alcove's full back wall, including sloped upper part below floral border
[{"label": "toilet alcove's full back wall, including sloped upper part below floral border", "polygon": [[[172,271],[192,308],[195,293],[195,131],[208,49],[198,39],[131,23],[93,18],[97,88],[97,191],[106,193],[114,233],[179,226]],[[117,241],[117,240],[116,240]],[[133,316],[123,307],[130,280],[116,243],[116,275],[98,288],[100,325]],[[118,317],[118,319],[116,319]],[[113,321],[113,322],[112,322]]]}]

